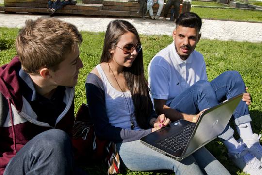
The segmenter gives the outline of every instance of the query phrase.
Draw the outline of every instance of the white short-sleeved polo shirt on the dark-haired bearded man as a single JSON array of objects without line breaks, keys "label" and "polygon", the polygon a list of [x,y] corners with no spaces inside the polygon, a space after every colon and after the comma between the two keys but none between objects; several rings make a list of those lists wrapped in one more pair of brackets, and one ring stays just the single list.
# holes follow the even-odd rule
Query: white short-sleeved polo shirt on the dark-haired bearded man
[{"label": "white short-sleeved polo shirt on the dark-haired bearded man", "polygon": [[183,61],[174,41],[157,53],[148,66],[149,86],[153,99],[167,100],[166,105],[199,80],[207,80],[203,55],[193,51]]}]

